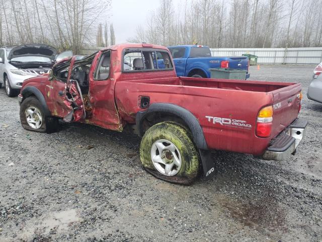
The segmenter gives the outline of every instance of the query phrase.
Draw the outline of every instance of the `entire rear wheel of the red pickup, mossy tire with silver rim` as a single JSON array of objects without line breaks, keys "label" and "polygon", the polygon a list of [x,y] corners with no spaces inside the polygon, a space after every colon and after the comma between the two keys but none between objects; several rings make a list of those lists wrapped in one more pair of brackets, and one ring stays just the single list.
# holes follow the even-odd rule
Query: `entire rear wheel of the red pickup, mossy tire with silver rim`
[{"label": "entire rear wheel of the red pickup, mossy tire with silver rim", "polygon": [[200,173],[200,157],[190,131],[174,122],[162,122],[146,131],[140,159],[148,172],[172,183],[189,185]]}]

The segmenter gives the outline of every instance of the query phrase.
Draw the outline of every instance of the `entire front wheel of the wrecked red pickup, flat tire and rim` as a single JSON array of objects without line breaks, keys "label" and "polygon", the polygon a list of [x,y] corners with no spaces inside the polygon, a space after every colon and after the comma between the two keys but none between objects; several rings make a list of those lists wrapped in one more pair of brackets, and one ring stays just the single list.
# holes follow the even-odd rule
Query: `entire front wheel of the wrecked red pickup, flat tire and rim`
[{"label": "entire front wheel of the wrecked red pickup, flat tire and rim", "polygon": [[39,100],[27,97],[20,106],[20,122],[24,129],[42,133],[52,133],[57,130],[58,119],[46,116]]}]

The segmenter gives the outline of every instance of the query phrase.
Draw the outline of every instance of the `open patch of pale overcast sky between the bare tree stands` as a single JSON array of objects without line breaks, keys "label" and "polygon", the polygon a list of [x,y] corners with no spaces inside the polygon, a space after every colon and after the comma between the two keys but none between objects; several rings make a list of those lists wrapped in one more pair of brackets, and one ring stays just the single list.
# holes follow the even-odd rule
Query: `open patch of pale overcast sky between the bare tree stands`
[{"label": "open patch of pale overcast sky between the bare tree stands", "polygon": [[158,7],[156,0],[112,0],[112,19],[116,43],[135,36],[136,26],[144,24],[150,11]]}]

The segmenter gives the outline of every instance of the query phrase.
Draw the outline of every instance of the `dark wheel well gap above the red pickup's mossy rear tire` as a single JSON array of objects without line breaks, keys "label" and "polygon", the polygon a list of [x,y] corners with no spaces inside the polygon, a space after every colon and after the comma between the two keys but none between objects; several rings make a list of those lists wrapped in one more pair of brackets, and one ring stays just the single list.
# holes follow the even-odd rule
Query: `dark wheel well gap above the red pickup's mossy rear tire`
[{"label": "dark wheel well gap above the red pickup's mossy rear tire", "polygon": [[[176,116],[173,113],[168,113],[168,112],[151,112],[147,114],[144,119],[142,120],[142,126],[141,129],[143,131],[143,134],[153,125],[156,125],[158,123],[162,122],[167,122],[167,121],[172,121],[176,122],[178,124],[181,124],[185,126],[188,130],[189,127],[187,123],[181,118]],[[191,131],[191,130],[190,130]]]}]

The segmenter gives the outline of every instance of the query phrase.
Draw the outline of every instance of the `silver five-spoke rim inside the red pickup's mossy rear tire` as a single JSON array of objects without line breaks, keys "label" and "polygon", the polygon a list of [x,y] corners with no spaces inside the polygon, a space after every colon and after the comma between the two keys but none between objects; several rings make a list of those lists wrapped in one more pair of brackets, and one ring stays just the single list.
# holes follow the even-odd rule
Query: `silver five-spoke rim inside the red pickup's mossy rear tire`
[{"label": "silver five-spoke rim inside the red pickup's mossy rear tire", "polygon": [[169,140],[160,139],[151,147],[152,163],[158,172],[173,176],[181,169],[182,159],[177,146]]}]

